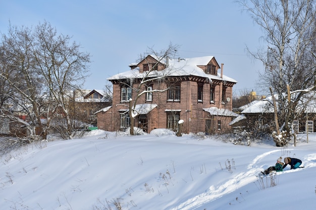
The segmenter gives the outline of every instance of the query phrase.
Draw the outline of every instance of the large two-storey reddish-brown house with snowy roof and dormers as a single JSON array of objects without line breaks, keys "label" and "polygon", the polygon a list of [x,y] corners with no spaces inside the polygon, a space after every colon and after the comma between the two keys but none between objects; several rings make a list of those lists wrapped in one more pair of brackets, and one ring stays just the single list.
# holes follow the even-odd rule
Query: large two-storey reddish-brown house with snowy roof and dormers
[{"label": "large two-storey reddish-brown house with snowy roof and dormers", "polygon": [[129,66],[130,71],[108,78],[113,84],[113,106],[96,112],[99,129],[114,131],[130,126],[129,99],[134,100],[144,77],[152,80],[140,90],[148,92],[135,107],[139,111],[135,126],[144,131],[177,130],[178,121],[184,120],[183,133],[225,132],[232,118],[239,116],[231,111],[232,89],[237,81],[223,74],[224,64],[220,66],[214,56],[159,60],[148,55]]}]

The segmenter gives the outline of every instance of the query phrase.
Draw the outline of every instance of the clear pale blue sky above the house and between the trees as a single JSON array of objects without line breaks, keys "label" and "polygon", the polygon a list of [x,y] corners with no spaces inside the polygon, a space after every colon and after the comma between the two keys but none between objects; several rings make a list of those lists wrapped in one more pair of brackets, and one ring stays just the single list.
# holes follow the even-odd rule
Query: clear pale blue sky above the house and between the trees
[{"label": "clear pale blue sky above the house and between the trees", "polygon": [[245,48],[256,51],[262,33],[232,0],[0,0],[1,33],[9,21],[32,27],[44,20],[90,53],[86,89],[103,89],[148,47],[160,51],[171,42],[180,45],[180,57],[213,55],[224,63],[224,75],[238,81],[234,93],[260,93],[255,84],[262,65]]}]

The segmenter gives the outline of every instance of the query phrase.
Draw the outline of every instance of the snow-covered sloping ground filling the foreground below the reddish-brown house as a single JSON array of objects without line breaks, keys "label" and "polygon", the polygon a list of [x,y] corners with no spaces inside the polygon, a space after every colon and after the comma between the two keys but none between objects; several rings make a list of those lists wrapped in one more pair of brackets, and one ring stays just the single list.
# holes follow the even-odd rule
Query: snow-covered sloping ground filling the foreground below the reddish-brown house
[{"label": "snow-covered sloping ground filling the foreground below the reddish-brown house", "polygon": [[[3,155],[0,209],[316,209],[314,135],[277,148],[161,131],[93,130]],[[305,168],[256,176],[280,156],[301,159]]]}]

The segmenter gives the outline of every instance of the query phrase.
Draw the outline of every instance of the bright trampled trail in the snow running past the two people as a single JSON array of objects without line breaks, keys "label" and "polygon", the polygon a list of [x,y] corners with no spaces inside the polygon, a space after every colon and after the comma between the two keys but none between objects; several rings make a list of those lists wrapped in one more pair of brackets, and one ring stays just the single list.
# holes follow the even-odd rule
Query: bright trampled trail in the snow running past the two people
[{"label": "bright trampled trail in the snow running past the two people", "polygon": [[256,156],[253,161],[248,164],[248,170],[246,172],[241,172],[237,174],[234,178],[231,178],[227,182],[218,186],[212,185],[206,190],[206,192],[196,195],[181,203],[180,205],[171,208],[170,210],[196,209],[206,202],[215,200],[225,194],[233,192],[238,188],[249,184],[250,182],[255,181],[257,179],[255,175],[257,175],[258,172],[261,171],[261,168],[254,167],[254,165],[262,158],[279,151],[281,150],[273,150]]}]

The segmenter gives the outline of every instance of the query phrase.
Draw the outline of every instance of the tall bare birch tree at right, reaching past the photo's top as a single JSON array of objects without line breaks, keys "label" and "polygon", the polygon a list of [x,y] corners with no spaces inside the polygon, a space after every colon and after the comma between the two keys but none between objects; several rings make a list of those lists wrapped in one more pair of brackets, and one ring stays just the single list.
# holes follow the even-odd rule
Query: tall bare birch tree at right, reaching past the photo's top
[{"label": "tall bare birch tree at right, reaching past the photo's top", "polygon": [[[276,94],[277,135],[285,131],[290,136],[294,113],[305,90],[314,90],[316,56],[313,45],[315,2],[313,0],[241,0],[236,1],[264,32],[267,48],[251,55],[265,66],[260,76],[261,87]],[[290,91],[287,91],[287,86]],[[299,91],[302,90],[302,91]],[[293,94],[295,92],[295,94]],[[288,93],[291,96],[288,96]],[[288,100],[290,98],[290,100]],[[278,129],[279,127],[279,129]],[[287,140],[278,142],[287,144]]]}]

